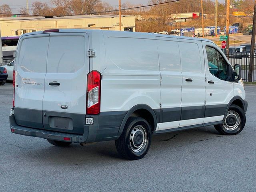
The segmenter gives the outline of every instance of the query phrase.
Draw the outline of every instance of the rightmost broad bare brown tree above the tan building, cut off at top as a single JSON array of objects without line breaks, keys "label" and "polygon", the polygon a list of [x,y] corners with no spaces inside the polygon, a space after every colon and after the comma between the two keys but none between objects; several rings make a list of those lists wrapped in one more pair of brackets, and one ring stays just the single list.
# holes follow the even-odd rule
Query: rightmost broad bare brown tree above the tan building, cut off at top
[{"label": "rightmost broad bare brown tree above the tan building, cut off at top", "polygon": [[72,0],[71,7],[75,14],[90,14],[100,6],[100,0]]}]

